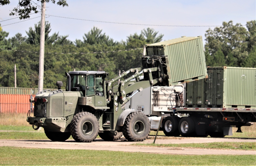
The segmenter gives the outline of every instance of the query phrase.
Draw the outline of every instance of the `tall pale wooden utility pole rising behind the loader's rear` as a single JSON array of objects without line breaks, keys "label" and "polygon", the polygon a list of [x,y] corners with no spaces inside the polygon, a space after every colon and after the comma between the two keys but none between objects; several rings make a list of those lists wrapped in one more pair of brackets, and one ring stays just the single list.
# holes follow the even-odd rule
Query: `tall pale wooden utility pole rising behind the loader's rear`
[{"label": "tall pale wooden utility pole rising behind the loader's rear", "polygon": [[44,85],[44,58],[45,58],[45,6],[46,2],[41,2],[41,34],[40,34],[40,54],[39,54],[39,74],[38,92],[43,90]]}]

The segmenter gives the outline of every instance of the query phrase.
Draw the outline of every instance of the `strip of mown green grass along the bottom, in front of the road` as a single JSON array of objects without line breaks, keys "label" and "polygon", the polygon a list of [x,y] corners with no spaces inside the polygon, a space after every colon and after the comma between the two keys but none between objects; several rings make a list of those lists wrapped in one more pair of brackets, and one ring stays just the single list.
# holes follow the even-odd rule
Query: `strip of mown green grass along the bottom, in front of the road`
[{"label": "strip of mown green grass along the bottom, in front of the road", "polygon": [[255,155],[164,155],[0,147],[0,165],[256,165]]}]

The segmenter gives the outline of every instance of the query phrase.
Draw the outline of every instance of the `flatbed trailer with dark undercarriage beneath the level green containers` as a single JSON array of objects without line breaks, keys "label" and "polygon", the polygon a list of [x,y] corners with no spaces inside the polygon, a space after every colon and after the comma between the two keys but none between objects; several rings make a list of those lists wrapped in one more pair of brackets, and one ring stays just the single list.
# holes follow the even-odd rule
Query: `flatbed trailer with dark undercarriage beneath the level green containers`
[{"label": "flatbed trailer with dark undercarriage beneath the level green containers", "polygon": [[[172,117],[178,119],[178,129],[182,136],[192,134],[211,137],[224,137],[232,135],[231,127],[237,127],[237,132],[241,131],[241,126],[253,125],[256,122],[256,109],[251,108],[168,108]],[[169,118],[167,118],[169,119]],[[163,130],[168,130],[170,124],[163,121]],[[166,131],[165,131],[166,132]],[[192,134],[193,135],[193,134]]]}]

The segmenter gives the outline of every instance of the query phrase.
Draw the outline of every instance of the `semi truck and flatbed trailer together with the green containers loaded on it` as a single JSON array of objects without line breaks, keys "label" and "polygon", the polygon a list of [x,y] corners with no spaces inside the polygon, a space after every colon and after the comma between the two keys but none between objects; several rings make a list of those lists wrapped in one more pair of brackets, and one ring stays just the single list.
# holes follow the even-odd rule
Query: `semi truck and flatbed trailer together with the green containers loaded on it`
[{"label": "semi truck and flatbed trailer together with the green containers loaded on it", "polygon": [[[166,136],[224,137],[256,121],[256,68],[207,67],[208,78],[150,87],[126,104]],[[143,102],[139,99],[143,98]],[[162,123],[160,120],[162,118]]]}]

